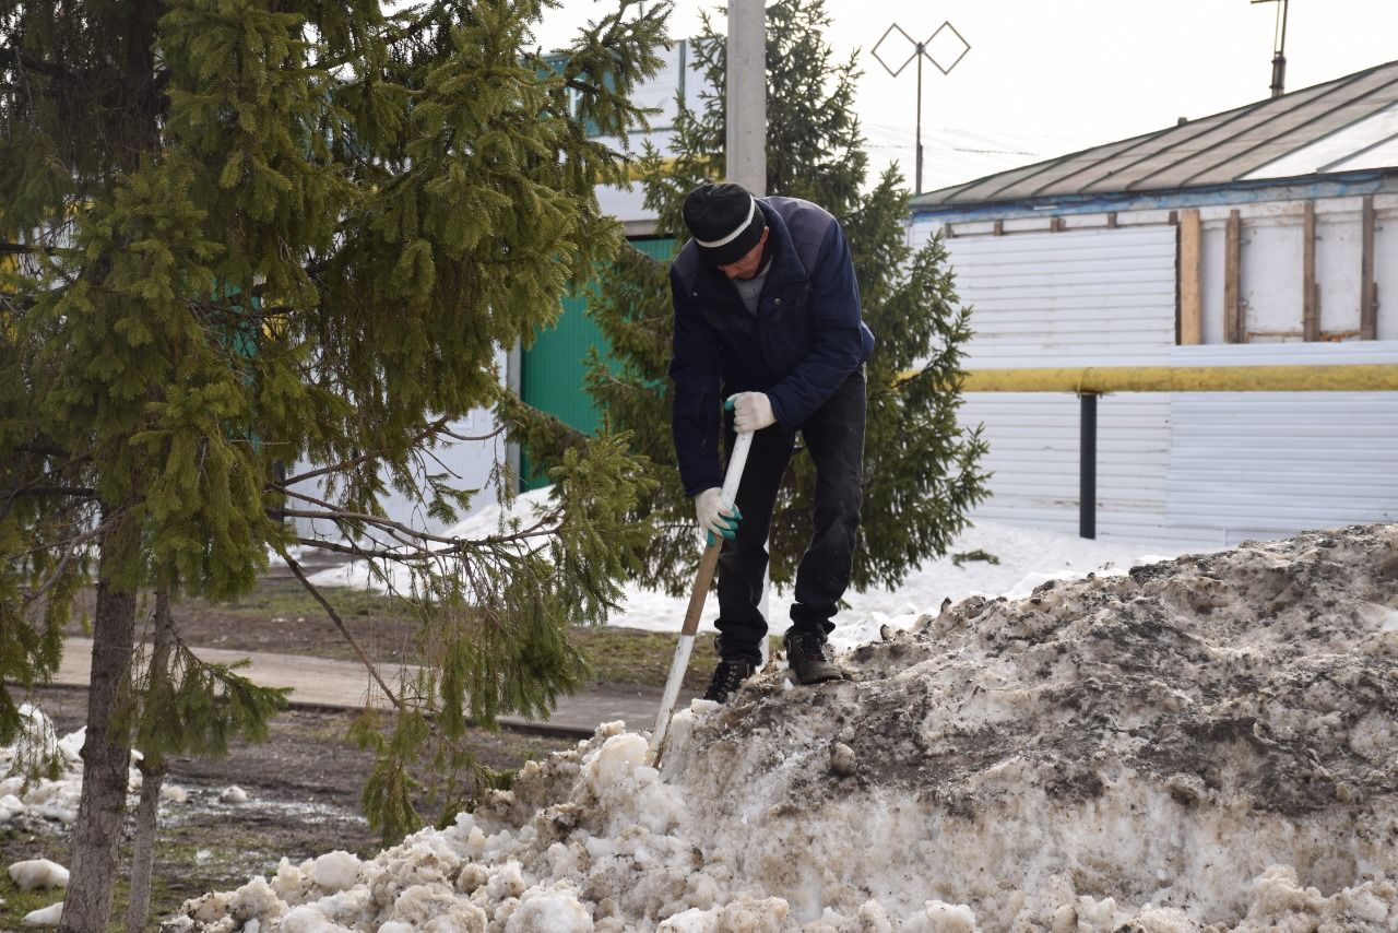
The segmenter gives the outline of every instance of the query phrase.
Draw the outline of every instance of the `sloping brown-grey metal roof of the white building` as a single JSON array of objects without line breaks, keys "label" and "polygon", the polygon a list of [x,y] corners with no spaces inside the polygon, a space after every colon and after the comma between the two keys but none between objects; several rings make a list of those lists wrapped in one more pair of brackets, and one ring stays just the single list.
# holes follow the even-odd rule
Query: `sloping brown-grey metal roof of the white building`
[{"label": "sloping brown-grey metal roof of the white building", "polygon": [[951,207],[1398,171],[1398,62],[914,197]]}]

